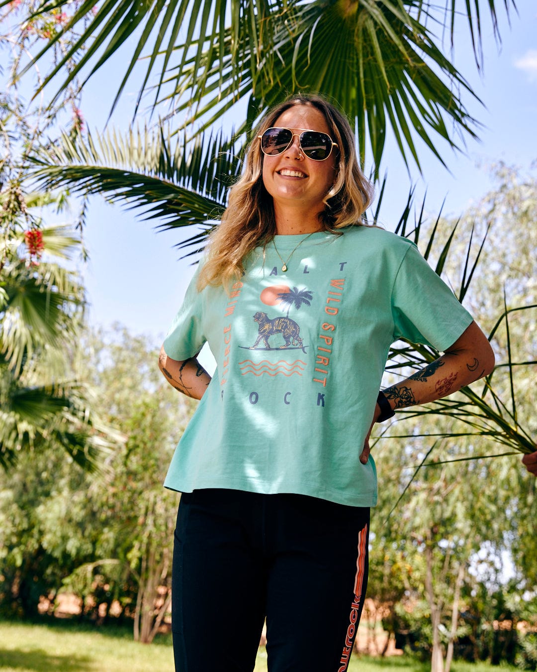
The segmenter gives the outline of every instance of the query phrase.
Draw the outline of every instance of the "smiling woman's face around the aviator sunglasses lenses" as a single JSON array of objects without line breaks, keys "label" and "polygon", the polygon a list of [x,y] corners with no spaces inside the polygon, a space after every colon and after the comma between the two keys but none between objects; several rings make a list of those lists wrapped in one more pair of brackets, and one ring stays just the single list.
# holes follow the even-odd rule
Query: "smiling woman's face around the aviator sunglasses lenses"
[{"label": "smiling woman's face around the aviator sunglasses lenses", "polygon": [[291,128],[297,134],[281,154],[263,156],[263,183],[275,208],[298,206],[320,212],[336,179],[336,152],[332,150],[324,161],[308,159],[300,151],[298,135],[307,129],[332,136],[324,115],[309,105],[295,105],[282,112],[273,125]]}]

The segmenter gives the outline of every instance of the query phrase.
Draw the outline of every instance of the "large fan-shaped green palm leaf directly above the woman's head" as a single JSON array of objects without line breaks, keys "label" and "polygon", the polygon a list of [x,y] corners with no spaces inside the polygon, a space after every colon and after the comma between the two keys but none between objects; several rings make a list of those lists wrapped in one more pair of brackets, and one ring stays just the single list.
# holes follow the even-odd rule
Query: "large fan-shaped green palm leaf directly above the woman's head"
[{"label": "large fan-shaped green palm leaf directly above the woman's head", "polygon": [[[242,62],[234,61],[228,30],[225,58],[215,58],[206,50],[206,60],[202,59],[200,65],[193,57],[181,70],[175,69],[177,74],[170,71],[165,81],[175,85],[173,96],[183,99],[174,113],[188,114],[192,110],[185,126],[203,116],[201,128],[207,129],[244,96],[256,101],[258,119],[288,93],[318,91],[336,99],[356,123],[362,163],[367,129],[378,167],[385,141],[384,120],[389,120],[405,161],[409,151],[419,166],[413,140],[417,133],[443,162],[428,129],[453,148],[458,142],[446,119],[456,132],[475,136],[477,124],[456,93],[459,88],[473,96],[469,85],[436,47],[426,27],[413,19],[402,3],[364,0],[359,9],[358,3],[351,5],[356,11],[347,13],[342,3],[295,5],[293,22],[287,22],[285,12],[273,12],[265,20],[274,34],[279,67],[275,71],[263,60],[255,77],[250,73],[254,45],[248,44],[245,36]],[[178,47],[180,51],[185,48],[186,44]],[[203,85],[197,83],[197,67],[209,73]],[[232,71],[240,72],[239,86],[230,78]]]}]

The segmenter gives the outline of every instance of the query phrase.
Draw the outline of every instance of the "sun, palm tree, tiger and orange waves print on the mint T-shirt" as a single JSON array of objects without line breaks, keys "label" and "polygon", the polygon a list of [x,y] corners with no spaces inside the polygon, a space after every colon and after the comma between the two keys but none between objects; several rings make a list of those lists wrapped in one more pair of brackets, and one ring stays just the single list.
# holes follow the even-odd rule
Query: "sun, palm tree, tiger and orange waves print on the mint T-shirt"
[{"label": "sun, palm tree, tiger and orange waves print on the mint T-shirt", "polygon": [[[264,288],[260,294],[260,300],[266,306],[283,306],[283,310],[287,308],[286,317],[269,316],[268,313],[258,310],[253,316],[253,321],[257,323],[257,337],[253,345],[241,345],[243,349],[248,350],[262,350],[262,351],[282,351],[282,350],[297,350],[300,349],[307,354],[307,345],[304,345],[303,339],[300,336],[299,324],[289,317],[291,308],[299,310],[301,306],[310,306],[313,299],[313,292],[306,288],[299,289],[297,287],[290,288],[287,285],[273,285]],[[283,343],[282,343],[283,339]],[[241,374],[244,376],[248,373],[254,376],[261,376],[268,374],[269,376],[292,376],[297,374],[302,375],[305,369],[306,362],[303,360],[295,360],[294,362],[287,362],[287,360],[279,360],[271,362],[269,360],[262,360],[261,362],[254,362],[253,360],[243,360],[239,362]]]}]

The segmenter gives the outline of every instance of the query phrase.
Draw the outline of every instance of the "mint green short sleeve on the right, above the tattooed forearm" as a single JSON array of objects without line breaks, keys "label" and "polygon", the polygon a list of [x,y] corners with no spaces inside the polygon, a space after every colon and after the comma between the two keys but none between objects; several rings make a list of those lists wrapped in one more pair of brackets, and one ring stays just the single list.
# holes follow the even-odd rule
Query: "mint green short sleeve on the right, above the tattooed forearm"
[{"label": "mint green short sleeve on the right, above the tattooed forearm", "polygon": [[393,285],[394,339],[405,338],[444,351],[469,327],[473,317],[416,245],[408,242]]}]

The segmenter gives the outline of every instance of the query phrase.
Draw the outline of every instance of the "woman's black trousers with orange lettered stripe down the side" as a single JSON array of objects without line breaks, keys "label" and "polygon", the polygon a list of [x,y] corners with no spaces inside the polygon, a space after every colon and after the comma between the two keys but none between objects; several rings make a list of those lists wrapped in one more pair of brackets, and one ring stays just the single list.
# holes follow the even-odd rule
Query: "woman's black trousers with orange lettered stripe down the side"
[{"label": "woman's black trousers with orange lettered stripe down the side", "polygon": [[344,672],[367,587],[369,508],[204,489],[177,515],[177,672]]}]

